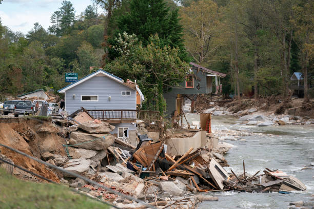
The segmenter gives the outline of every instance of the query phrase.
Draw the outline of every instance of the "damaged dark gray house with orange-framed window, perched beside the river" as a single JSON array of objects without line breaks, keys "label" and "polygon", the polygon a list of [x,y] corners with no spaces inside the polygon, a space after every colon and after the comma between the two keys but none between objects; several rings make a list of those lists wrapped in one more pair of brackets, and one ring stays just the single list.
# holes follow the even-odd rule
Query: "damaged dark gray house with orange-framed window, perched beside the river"
[{"label": "damaged dark gray house with orange-framed window, perched beside the river", "polygon": [[210,70],[193,62],[190,62],[190,66],[186,80],[180,83],[179,86],[172,87],[169,92],[164,94],[167,103],[166,114],[168,116],[181,114],[183,95],[191,98],[197,94],[212,93],[213,79],[215,80],[214,92],[221,91],[221,78],[226,77],[226,74]]}]

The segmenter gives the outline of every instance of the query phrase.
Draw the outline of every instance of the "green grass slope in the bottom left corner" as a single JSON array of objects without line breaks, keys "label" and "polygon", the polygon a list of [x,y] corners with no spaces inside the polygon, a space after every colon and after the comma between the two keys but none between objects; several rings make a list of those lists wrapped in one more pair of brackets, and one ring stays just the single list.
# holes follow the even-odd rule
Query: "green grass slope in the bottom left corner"
[{"label": "green grass slope in the bottom left corner", "polygon": [[64,185],[23,181],[0,168],[0,208],[109,208]]}]

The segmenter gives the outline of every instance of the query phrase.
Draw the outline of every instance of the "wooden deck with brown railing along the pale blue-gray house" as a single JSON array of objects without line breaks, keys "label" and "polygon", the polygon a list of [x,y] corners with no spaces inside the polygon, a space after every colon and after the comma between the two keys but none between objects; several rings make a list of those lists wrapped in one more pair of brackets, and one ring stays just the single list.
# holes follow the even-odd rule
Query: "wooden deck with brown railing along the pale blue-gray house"
[{"label": "wooden deck with brown railing along the pale blue-gray house", "polygon": [[135,122],[136,120],[158,121],[158,111],[149,110],[86,110],[95,119],[109,123]]}]

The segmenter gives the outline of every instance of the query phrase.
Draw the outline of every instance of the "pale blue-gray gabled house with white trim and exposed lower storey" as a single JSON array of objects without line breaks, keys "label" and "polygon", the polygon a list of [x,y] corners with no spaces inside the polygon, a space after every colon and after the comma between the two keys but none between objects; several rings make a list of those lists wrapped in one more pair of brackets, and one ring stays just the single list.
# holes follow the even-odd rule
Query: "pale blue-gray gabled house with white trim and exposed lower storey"
[{"label": "pale blue-gray gabled house with white trim and exposed lower storey", "polygon": [[136,145],[135,122],[141,119],[140,110],[136,110],[136,97],[140,96],[141,100],[142,93],[134,83],[126,83],[100,69],[58,92],[65,94],[65,110],[69,114],[84,107],[94,118],[113,123],[115,129],[111,134],[132,138],[129,142]]}]

